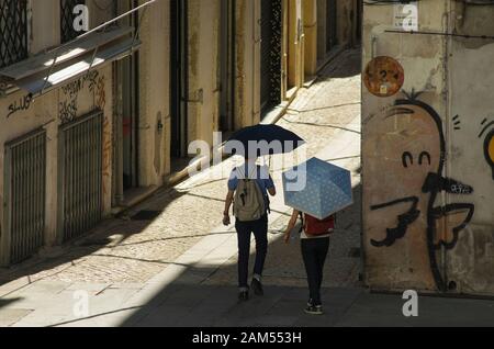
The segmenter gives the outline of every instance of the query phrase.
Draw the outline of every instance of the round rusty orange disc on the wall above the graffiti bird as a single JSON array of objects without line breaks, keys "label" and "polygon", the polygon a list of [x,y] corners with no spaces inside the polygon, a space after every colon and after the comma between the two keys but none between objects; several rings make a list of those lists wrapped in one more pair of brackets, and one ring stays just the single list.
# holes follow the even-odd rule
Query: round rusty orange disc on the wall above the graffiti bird
[{"label": "round rusty orange disc on the wall above the graffiti bird", "polygon": [[366,68],[363,81],[369,92],[377,97],[396,94],[405,82],[402,65],[391,57],[375,57]]}]

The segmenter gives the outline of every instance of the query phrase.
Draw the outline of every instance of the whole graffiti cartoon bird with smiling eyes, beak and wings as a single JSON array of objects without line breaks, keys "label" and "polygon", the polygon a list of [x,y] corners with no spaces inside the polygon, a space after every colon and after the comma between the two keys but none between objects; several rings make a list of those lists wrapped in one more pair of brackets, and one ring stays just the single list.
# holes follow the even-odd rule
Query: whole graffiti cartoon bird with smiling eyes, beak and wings
[{"label": "whole graffiti cartoon bird with smiling eyes, beak and wings", "polygon": [[[369,262],[388,261],[381,269],[388,269],[389,275],[381,278],[394,274],[392,281],[401,285],[444,289],[437,250],[456,245],[473,206],[436,206],[436,202],[441,192],[470,194],[473,189],[442,177],[446,142],[441,120],[425,103],[398,101],[368,119],[366,127],[362,151],[368,173]],[[449,229],[444,221],[452,214],[461,217]],[[389,280],[381,282],[389,284]]]}]

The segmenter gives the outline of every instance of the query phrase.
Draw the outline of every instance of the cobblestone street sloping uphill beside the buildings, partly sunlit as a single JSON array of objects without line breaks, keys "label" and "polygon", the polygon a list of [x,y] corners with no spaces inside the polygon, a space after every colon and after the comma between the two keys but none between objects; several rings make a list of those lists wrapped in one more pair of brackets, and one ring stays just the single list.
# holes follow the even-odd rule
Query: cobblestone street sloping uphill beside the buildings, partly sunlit
[{"label": "cobblestone street sloping uphill beside the buildings, partly sunlit", "polygon": [[[325,286],[358,285],[361,83],[359,71],[360,50],[344,52],[322,71],[321,78],[312,87],[300,91],[287,114],[278,122],[307,142],[305,147],[308,158],[318,155],[324,160],[347,167],[353,173],[356,204],[338,217],[338,229],[333,239]],[[352,142],[355,151],[345,153],[341,157],[324,158],[323,150],[334,145],[332,140],[346,134],[357,136],[357,140]],[[226,178],[236,161],[238,161],[236,158],[227,159],[175,188],[158,190],[150,199],[124,216],[103,222],[87,237],[44,252],[10,270],[0,271],[0,281],[3,285],[0,288],[0,296],[12,294],[21,296],[24,290],[36,285],[42,290],[55,288],[57,292],[90,290],[93,294],[119,289],[139,290],[144,283],[169,266],[177,264],[177,259],[202,238],[212,234],[232,233],[232,227],[224,229],[217,227],[226,194]],[[282,202],[281,172],[281,170],[273,172],[279,195],[272,203],[276,214],[271,216],[271,247],[267,261],[266,283],[277,286],[305,286],[299,245],[293,241],[287,247],[280,241],[280,230],[284,228],[289,217],[288,207]],[[155,219],[133,218],[143,211],[159,212],[159,215]],[[236,284],[235,249],[231,250],[228,256],[231,257],[223,268],[216,268],[217,270],[203,280],[204,285]],[[30,305],[25,307],[31,309]]]}]

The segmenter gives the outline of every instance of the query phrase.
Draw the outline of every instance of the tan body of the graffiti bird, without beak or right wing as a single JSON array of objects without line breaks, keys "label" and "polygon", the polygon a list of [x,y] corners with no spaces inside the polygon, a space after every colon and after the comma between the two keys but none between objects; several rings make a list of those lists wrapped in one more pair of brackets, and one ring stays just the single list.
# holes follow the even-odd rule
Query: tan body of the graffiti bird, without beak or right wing
[{"label": "tan body of the graffiti bird, without beak or right wing", "polygon": [[[366,128],[362,151],[368,173],[364,210],[370,222],[369,257],[375,258],[377,263],[389,260],[390,275],[400,273],[411,285],[431,289],[427,219],[423,214],[427,212],[428,196],[423,185],[428,173],[440,167],[441,137],[437,125],[425,109],[403,104],[372,116]],[[383,248],[392,246],[396,248]]]}]

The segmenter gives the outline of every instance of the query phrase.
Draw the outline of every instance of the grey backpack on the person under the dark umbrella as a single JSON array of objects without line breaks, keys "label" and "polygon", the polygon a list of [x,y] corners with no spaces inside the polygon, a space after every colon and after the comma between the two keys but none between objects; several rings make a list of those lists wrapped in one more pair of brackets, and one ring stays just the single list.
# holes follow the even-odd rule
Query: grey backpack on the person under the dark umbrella
[{"label": "grey backpack on the person under the dark umbrella", "polygon": [[249,178],[238,179],[238,187],[234,198],[235,217],[240,222],[252,222],[260,219],[265,214],[265,196],[256,180]]}]

